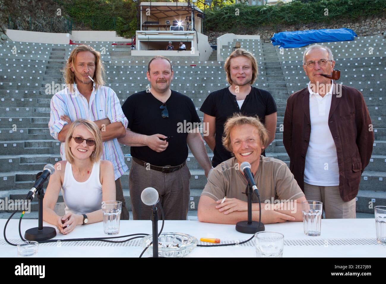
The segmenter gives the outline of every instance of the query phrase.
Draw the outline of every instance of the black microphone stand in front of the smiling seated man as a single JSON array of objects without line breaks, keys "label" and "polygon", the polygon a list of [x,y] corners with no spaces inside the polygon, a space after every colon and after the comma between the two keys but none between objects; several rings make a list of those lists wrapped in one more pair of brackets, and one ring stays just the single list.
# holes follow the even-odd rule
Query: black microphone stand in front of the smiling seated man
[{"label": "black microphone stand in front of the smiling seated man", "polygon": [[[253,173],[252,173],[253,175]],[[249,184],[249,180],[247,175],[245,175],[248,181],[247,188],[245,189],[245,194],[248,197],[248,221],[240,221],[237,222],[236,224],[236,231],[240,233],[245,233],[245,234],[254,234],[259,231],[265,231],[264,224],[261,222],[257,221],[252,221],[252,195],[253,195],[253,189],[251,185]],[[256,190],[256,195],[259,197],[258,191]],[[259,220],[261,220],[261,202],[260,202],[260,197],[259,197]]]}]

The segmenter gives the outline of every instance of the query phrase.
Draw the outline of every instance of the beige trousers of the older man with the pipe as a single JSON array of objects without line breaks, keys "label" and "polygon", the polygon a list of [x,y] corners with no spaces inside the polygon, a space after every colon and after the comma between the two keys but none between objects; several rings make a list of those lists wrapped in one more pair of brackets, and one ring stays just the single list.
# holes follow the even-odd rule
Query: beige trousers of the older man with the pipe
[{"label": "beige trousers of the older man with the pipe", "polygon": [[355,219],[356,200],[343,201],[339,186],[319,186],[304,183],[307,200],[322,201],[326,219]]}]

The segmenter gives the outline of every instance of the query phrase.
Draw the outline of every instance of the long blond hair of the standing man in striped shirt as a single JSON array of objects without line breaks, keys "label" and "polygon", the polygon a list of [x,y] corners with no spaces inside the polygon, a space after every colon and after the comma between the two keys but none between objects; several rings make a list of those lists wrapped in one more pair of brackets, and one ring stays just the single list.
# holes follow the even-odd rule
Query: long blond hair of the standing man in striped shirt
[{"label": "long blond hair of the standing man in striped shirt", "polygon": [[71,54],[68,60],[66,61],[66,65],[61,70],[63,72],[66,85],[71,86],[71,89],[72,89],[71,84],[75,83],[75,73],[71,71],[71,67],[74,68],[74,71],[76,72],[75,59],[76,59],[76,55],[81,51],[90,51],[95,56],[95,71],[94,71],[93,80],[95,83],[95,89],[98,89],[100,86],[103,86],[105,83],[103,81],[103,76],[105,75],[105,68],[103,67],[103,62],[100,59],[101,58],[100,52],[96,51],[91,46],[88,46],[85,44],[78,45],[76,46],[76,48],[73,49],[73,51],[71,51]]}]

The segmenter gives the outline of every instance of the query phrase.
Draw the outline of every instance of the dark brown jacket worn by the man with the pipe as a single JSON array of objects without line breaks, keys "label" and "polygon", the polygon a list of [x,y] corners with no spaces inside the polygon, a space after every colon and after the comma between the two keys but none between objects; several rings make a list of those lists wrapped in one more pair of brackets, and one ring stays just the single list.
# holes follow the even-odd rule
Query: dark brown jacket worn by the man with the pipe
[{"label": "dark brown jacket worn by the man with the pipe", "polygon": [[[334,83],[328,126],[337,148],[340,197],[350,201],[357,196],[361,174],[369,163],[374,143],[369,111],[361,92]],[[289,169],[303,192],[310,134],[310,93],[304,88],[287,100],[283,132]]]}]

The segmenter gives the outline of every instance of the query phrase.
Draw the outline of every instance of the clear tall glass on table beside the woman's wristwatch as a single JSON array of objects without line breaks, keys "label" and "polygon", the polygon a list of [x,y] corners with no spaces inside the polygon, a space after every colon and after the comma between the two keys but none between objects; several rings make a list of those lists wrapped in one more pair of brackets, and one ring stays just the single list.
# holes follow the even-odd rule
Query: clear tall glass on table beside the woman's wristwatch
[{"label": "clear tall glass on table beside the woman's wristwatch", "polygon": [[106,235],[119,234],[119,220],[122,212],[121,201],[103,201],[103,230]]}]

